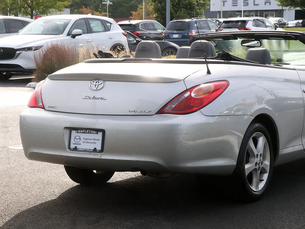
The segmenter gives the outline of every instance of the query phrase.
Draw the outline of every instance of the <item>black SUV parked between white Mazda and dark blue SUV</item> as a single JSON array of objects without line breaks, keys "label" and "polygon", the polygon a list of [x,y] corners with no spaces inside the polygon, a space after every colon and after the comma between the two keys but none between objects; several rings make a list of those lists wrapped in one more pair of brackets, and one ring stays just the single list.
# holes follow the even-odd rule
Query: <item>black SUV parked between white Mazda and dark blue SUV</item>
[{"label": "black SUV parked between white Mazda and dark blue SUV", "polygon": [[118,24],[122,30],[127,30],[142,40],[163,41],[164,27],[155,20],[129,20]]}]

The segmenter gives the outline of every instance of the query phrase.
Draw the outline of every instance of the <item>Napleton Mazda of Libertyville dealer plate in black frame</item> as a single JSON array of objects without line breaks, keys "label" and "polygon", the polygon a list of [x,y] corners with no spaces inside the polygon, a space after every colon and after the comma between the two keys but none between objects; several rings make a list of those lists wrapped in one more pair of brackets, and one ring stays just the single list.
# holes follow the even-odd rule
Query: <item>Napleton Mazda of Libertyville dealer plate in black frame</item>
[{"label": "Napleton Mazda of Libertyville dealer plate in black frame", "polygon": [[104,130],[70,129],[69,149],[73,151],[103,152]]}]

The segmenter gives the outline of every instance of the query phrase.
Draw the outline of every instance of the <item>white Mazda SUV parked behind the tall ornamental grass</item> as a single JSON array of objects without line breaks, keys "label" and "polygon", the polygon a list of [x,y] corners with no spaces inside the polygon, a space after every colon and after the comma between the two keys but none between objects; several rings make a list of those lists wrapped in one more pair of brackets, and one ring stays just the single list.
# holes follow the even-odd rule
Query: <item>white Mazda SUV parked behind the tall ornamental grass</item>
[{"label": "white Mazda SUV parked behind the tall ornamental grass", "polygon": [[109,51],[122,48],[128,51],[126,36],[127,33],[113,19],[107,17],[41,17],[18,34],[0,39],[0,79],[9,79],[13,72],[33,72],[36,68],[34,53],[50,42],[61,41],[75,48],[87,45],[92,50],[98,48]]}]

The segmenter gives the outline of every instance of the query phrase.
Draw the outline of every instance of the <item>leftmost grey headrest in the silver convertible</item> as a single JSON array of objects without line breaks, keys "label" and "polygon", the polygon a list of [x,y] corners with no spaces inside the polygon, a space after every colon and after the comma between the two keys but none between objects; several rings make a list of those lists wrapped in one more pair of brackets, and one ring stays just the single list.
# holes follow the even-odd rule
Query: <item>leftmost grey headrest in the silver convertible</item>
[{"label": "leftmost grey headrest in the silver convertible", "polygon": [[161,59],[161,57],[160,46],[154,41],[141,41],[135,50],[135,58]]}]

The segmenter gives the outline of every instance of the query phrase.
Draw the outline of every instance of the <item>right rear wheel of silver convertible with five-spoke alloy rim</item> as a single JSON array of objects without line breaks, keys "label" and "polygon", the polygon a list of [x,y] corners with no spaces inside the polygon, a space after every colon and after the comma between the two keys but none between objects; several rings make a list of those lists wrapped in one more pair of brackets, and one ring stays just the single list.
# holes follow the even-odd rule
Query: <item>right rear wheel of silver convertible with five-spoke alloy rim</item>
[{"label": "right rear wheel of silver convertible with five-spoke alloy rim", "polygon": [[[264,144],[260,144],[264,141]],[[246,201],[260,199],[271,180],[273,166],[270,134],[264,125],[252,123],[242,139],[233,174],[234,183],[239,189],[237,191],[241,194],[239,197]]]}]

